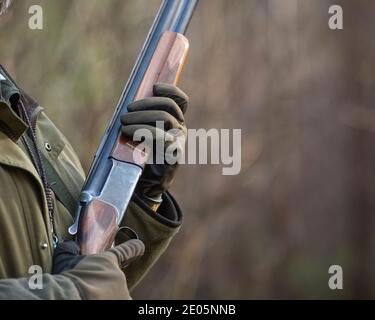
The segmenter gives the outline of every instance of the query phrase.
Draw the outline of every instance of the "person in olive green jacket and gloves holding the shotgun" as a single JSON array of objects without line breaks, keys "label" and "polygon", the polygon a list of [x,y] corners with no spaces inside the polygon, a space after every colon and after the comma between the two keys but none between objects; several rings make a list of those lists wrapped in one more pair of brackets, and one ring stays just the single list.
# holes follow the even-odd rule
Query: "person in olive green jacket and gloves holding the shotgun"
[{"label": "person in olive green jacket and gloves holding the shotgun", "polygon": [[[1,14],[10,3],[0,0]],[[164,84],[155,85],[154,95],[129,106],[121,119],[123,134],[132,137],[142,128],[155,133],[156,121],[164,121],[167,129],[185,129],[187,96]],[[117,246],[83,257],[67,231],[74,212],[64,196],[65,191],[77,198],[84,182],[82,167],[44,109],[2,67],[0,150],[0,298],[129,299],[129,289],[181,224],[180,209],[167,191],[177,166],[148,165]],[[138,239],[131,239],[129,230]],[[30,271],[38,268],[42,278],[33,282]]]}]

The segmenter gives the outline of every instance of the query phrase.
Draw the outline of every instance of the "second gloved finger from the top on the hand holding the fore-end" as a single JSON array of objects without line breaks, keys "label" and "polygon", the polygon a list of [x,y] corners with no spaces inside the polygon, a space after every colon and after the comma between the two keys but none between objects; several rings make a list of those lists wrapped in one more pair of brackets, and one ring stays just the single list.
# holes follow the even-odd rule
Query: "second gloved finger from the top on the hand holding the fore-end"
[{"label": "second gloved finger from the top on the hand holding the fore-end", "polygon": [[133,103],[128,105],[128,111],[145,111],[145,110],[161,110],[168,112],[173,117],[175,117],[179,122],[183,123],[185,121],[184,115],[177,105],[177,103],[167,97],[152,97],[146,98],[138,101],[134,101]]}]

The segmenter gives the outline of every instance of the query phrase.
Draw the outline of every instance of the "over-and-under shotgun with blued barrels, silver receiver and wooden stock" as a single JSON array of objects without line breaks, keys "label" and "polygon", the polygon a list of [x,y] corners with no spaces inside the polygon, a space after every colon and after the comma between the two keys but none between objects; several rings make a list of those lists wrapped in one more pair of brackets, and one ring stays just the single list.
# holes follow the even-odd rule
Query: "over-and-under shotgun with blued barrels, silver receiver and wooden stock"
[{"label": "over-and-under shotgun with blued barrels, silver receiver and wooden stock", "polygon": [[121,114],[129,103],[150,97],[157,82],[177,84],[189,50],[184,36],[198,0],[164,0],[116,110],[95,153],[69,233],[81,254],[95,254],[114,242],[147,154],[121,135]]}]

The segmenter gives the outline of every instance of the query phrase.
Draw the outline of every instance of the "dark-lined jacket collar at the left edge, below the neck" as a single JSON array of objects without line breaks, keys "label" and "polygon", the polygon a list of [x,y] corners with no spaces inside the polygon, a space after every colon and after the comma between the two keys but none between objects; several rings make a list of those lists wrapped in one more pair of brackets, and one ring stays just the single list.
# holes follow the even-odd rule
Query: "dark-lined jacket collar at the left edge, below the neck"
[{"label": "dark-lined jacket collar at the left edge, below the neck", "polygon": [[38,103],[27,95],[0,65],[0,127],[13,140],[17,141],[28,128],[25,121],[17,114],[20,102],[25,106],[30,119],[41,110]]}]

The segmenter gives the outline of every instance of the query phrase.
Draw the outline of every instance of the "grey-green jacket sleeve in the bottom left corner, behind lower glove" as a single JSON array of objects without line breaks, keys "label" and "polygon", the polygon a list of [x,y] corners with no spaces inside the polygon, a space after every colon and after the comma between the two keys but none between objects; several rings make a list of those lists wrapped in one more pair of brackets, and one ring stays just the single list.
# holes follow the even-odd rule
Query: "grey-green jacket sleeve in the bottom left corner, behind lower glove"
[{"label": "grey-green jacket sleeve in the bottom left corner, behind lower glove", "polygon": [[0,280],[0,300],[80,300],[74,282],[62,275],[43,274],[42,287],[31,289],[31,278]]}]

